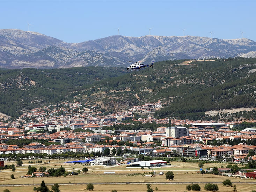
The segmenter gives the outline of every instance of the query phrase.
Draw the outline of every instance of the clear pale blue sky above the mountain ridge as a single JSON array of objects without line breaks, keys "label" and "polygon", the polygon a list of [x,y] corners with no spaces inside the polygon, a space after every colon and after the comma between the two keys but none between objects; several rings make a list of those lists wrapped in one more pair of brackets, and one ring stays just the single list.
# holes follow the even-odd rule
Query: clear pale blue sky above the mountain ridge
[{"label": "clear pale blue sky above the mountain ridge", "polygon": [[0,0],[0,29],[28,31],[29,23],[30,31],[73,43],[118,35],[118,28],[133,37],[256,41],[255,10],[256,0]]}]

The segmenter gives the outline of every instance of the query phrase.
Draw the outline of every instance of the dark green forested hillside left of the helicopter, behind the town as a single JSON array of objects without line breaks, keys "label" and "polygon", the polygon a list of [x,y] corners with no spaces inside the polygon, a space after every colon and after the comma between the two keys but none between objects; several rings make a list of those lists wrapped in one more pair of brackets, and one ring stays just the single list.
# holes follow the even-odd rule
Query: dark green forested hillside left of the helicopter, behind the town
[{"label": "dark green forested hillside left of the helicopter, behind the town", "polygon": [[124,72],[114,67],[0,70],[0,112],[17,117],[28,109],[70,101],[88,84]]}]

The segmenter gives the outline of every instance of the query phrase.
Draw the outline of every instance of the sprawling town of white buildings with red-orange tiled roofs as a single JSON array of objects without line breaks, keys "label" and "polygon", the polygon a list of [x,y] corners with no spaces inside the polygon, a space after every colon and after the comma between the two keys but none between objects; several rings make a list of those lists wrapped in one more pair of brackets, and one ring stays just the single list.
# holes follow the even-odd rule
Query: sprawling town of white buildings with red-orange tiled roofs
[{"label": "sprawling town of white buildings with red-orange tiled roofs", "polygon": [[[256,152],[256,129],[234,129],[243,121],[154,119],[153,112],[162,108],[160,101],[108,115],[104,115],[98,108],[79,102],[63,102],[60,105],[32,109],[12,123],[1,123],[0,157],[15,158],[17,154],[24,157],[31,153],[56,158],[58,154],[72,152],[82,153],[78,156],[80,158],[143,154],[247,162],[248,154],[254,155]],[[136,114],[145,118],[134,118]],[[142,128],[133,130],[131,122],[141,123]],[[156,123],[159,126],[155,130],[143,128],[145,123]],[[131,129],[108,129],[120,124],[130,125]],[[5,144],[13,139],[48,141],[51,145],[41,142],[23,146]],[[255,160],[256,156],[253,155],[250,158]]]}]

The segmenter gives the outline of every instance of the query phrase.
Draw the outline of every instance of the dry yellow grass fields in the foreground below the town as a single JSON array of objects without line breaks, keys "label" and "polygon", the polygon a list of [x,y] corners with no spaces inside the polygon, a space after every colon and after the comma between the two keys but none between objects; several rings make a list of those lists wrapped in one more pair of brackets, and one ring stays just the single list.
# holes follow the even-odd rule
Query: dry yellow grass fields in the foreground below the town
[{"label": "dry yellow grass fields in the foreground below the town", "polygon": [[[36,160],[33,160],[34,162]],[[67,161],[67,160],[65,160]],[[82,168],[85,167],[83,164],[71,164],[64,163],[64,160],[51,160],[49,164],[36,163],[28,164],[28,161],[23,161],[22,167],[16,167],[16,170],[2,170],[0,172],[0,185],[6,184],[34,184],[39,186],[44,180],[46,185],[51,189],[51,184],[69,184],[69,185],[60,185],[60,190],[65,192],[71,191],[85,191],[86,185],[78,185],[77,183],[94,183],[94,191],[112,191],[116,189],[118,192],[122,191],[147,191],[147,183],[157,183],[157,182],[168,182],[170,184],[152,184],[152,188],[155,190],[155,187],[158,188],[158,191],[186,191],[186,184],[174,184],[175,182],[222,182],[225,179],[230,179],[237,186],[237,191],[250,192],[251,190],[256,189],[256,180],[255,179],[241,179],[225,176],[215,176],[211,174],[198,174],[198,163],[189,163],[189,162],[171,162],[171,166],[153,168],[153,171],[159,173],[160,171],[173,171],[174,180],[167,181],[165,175],[156,175],[155,177],[145,177],[143,175],[138,175],[137,173],[147,173],[152,172],[151,169],[144,168],[126,168],[125,165],[116,165],[111,167],[101,167],[101,166],[86,166],[89,171],[87,174],[82,173]],[[44,161],[43,161],[44,162]],[[5,164],[16,164],[15,161],[5,162]],[[59,168],[60,166],[65,167],[66,171],[78,171],[81,173],[75,176],[67,177],[41,177],[41,178],[22,178],[27,174],[28,165],[35,166],[37,168],[45,166],[47,169],[50,168]],[[204,170],[206,168],[220,167],[220,163],[207,163],[204,164]],[[227,164],[223,164],[226,167]],[[104,171],[115,172],[115,174],[104,174]],[[15,179],[11,179],[10,175],[14,174]],[[112,183],[112,184],[96,184],[96,183]],[[130,182],[130,184],[118,184],[118,183]],[[132,182],[142,182],[143,184],[132,184]],[[255,182],[255,184],[239,184],[239,182]],[[116,183],[116,184],[113,184]],[[144,184],[145,183],[145,184]],[[204,191],[204,185],[200,184],[202,191]],[[222,184],[218,184],[219,191],[232,191],[233,187],[223,187]],[[10,191],[33,191],[34,186],[20,186],[20,187],[0,187],[0,192],[4,189],[9,189]]]}]

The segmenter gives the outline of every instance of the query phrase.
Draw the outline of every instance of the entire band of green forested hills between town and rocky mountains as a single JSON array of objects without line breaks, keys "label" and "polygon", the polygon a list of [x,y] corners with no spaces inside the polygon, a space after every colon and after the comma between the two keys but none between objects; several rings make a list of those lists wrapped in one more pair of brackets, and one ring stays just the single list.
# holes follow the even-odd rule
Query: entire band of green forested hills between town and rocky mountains
[{"label": "entire band of green forested hills between town and rocky mountains", "polygon": [[255,72],[256,58],[162,61],[133,72],[123,67],[1,70],[0,112],[16,117],[76,100],[108,113],[160,100],[166,107],[155,117],[211,119],[205,111],[255,107]]}]

